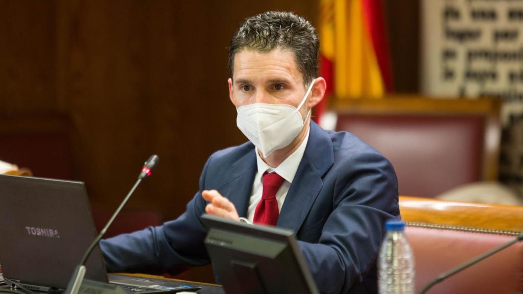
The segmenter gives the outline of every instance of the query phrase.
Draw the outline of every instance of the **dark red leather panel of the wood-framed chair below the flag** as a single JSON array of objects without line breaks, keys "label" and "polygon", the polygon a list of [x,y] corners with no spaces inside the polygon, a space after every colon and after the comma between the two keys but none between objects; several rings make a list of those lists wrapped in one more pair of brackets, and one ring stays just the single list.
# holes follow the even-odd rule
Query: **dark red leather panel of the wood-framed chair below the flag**
[{"label": "dark red leather panel of the wood-framed chair below the flag", "polygon": [[337,128],[392,162],[400,194],[434,197],[482,179],[481,117],[352,115],[340,116]]}]

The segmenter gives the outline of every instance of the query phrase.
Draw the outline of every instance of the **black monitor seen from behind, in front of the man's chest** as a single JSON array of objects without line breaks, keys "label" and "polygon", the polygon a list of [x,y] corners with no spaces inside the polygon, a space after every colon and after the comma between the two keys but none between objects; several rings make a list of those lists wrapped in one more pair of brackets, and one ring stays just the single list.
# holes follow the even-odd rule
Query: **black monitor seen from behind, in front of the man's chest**
[{"label": "black monitor seen from behind, in front of the man's chest", "polygon": [[319,293],[292,231],[201,218],[207,252],[227,294]]}]

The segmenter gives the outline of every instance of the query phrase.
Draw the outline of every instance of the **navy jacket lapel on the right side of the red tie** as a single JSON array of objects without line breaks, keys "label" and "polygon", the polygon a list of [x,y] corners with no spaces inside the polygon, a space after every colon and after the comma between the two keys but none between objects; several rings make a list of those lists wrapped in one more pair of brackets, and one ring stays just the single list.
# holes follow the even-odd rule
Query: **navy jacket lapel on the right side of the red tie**
[{"label": "navy jacket lapel on the right side of the red tie", "polygon": [[332,141],[311,122],[309,141],[278,218],[278,227],[297,233],[323,186],[323,175],[334,164]]}]

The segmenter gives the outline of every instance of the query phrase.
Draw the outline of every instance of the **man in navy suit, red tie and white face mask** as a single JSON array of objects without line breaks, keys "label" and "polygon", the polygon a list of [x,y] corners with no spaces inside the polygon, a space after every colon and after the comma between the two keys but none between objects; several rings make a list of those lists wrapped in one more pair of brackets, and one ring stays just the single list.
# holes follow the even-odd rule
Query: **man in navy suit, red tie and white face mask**
[{"label": "man in navy suit, red tie and white face mask", "polygon": [[311,122],[323,98],[319,41],[305,19],[245,20],[229,51],[229,96],[250,142],[209,157],[200,190],[178,219],[101,242],[109,270],[157,272],[208,264],[200,216],[295,232],[323,293],[376,290],[386,219],[399,216],[394,169],[354,135]]}]

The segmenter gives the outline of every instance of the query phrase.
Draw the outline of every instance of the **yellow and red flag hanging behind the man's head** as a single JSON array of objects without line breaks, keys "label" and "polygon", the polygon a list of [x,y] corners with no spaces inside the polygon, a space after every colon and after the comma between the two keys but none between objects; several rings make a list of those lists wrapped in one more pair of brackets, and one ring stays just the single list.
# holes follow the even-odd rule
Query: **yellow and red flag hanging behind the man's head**
[{"label": "yellow and red flag hanging behind the man's head", "polygon": [[329,96],[379,98],[393,91],[388,38],[381,0],[320,1],[320,75]]}]

